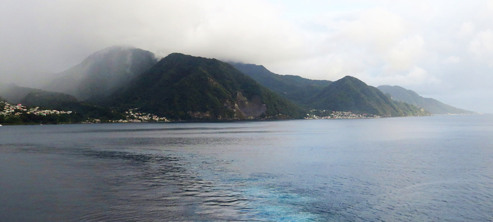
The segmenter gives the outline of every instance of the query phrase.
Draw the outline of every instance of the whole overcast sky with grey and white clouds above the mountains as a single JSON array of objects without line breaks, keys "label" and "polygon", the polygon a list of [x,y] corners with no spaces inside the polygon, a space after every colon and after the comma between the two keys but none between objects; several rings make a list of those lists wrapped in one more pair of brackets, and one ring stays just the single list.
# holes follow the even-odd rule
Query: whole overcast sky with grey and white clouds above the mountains
[{"label": "whole overcast sky with grey and white clouds above the mountains", "polygon": [[0,81],[112,45],[400,85],[493,113],[493,0],[2,0]]}]

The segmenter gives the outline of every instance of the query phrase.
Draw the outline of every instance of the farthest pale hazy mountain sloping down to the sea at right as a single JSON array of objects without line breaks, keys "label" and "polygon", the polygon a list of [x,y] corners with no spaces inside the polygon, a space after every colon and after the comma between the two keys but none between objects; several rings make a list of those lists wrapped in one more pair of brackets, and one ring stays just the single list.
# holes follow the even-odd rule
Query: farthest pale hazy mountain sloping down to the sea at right
[{"label": "farthest pale hazy mountain sloping down to the sea at right", "polygon": [[444,104],[432,98],[424,98],[418,93],[405,89],[400,86],[381,85],[377,87],[384,93],[390,94],[393,100],[408,103],[417,107],[421,107],[431,114],[472,114],[473,111],[466,111]]}]

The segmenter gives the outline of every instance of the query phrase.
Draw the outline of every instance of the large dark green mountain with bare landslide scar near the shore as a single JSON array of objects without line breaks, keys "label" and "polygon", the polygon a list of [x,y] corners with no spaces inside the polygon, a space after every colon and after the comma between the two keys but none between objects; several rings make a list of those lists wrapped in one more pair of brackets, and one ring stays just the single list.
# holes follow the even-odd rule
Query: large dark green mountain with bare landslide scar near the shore
[{"label": "large dark green mountain with bare landslide scar near the shore", "polygon": [[172,53],[97,104],[172,119],[300,118],[304,111],[216,59]]}]

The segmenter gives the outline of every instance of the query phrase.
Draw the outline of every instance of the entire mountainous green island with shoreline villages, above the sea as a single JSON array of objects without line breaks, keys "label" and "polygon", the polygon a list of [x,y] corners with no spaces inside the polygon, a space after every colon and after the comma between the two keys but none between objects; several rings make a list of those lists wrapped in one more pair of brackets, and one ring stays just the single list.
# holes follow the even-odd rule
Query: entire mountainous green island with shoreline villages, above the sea
[{"label": "entire mountainous green island with shoreline villages, above the sea", "polygon": [[132,47],[100,50],[42,89],[0,83],[1,124],[378,118],[465,113],[398,86],[274,74]]}]

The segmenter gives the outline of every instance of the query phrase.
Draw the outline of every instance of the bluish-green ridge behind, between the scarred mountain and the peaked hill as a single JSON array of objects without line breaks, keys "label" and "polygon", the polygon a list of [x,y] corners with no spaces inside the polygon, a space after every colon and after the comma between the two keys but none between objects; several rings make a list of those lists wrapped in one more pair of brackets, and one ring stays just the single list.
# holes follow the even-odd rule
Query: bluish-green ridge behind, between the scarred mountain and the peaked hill
[{"label": "bluish-green ridge behind, between the scarred mountain and the peaked hill", "polygon": [[282,97],[305,107],[308,106],[307,98],[332,83],[328,80],[312,80],[298,75],[275,74],[260,65],[233,62],[229,64]]}]

